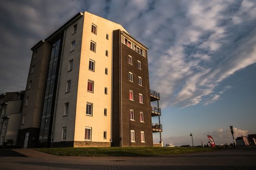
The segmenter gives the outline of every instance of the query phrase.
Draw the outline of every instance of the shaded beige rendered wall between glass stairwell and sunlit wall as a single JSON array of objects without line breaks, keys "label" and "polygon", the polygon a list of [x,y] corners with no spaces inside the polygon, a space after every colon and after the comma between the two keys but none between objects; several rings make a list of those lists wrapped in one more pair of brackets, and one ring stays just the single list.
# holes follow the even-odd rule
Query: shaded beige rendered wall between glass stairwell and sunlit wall
[{"label": "shaded beige rendered wall between glass stairwell and sunlit wall", "polygon": [[[73,26],[77,24],[77,31],[73,34]],[[76,99],[79,74],[79,62],[81,53],[81,40],[83,29],[83,17],[75,20],[65,30],[62,44],[62,56],[59,68],[59,81],[57,85],[56,109],[54,118],[54,142],[60,142],[62,139],[62,128],[67,127],[66,141],[74,141],[75,117],[76,117]],[[75,50],[71,52],[71,43],[75,41]],[[68,71],[69,61],[73,60],[73,69]],[[71,80],[71,90],[66,92],[67,81]],[[63,116],[65,103],[69,102],[69,114]]]}]

